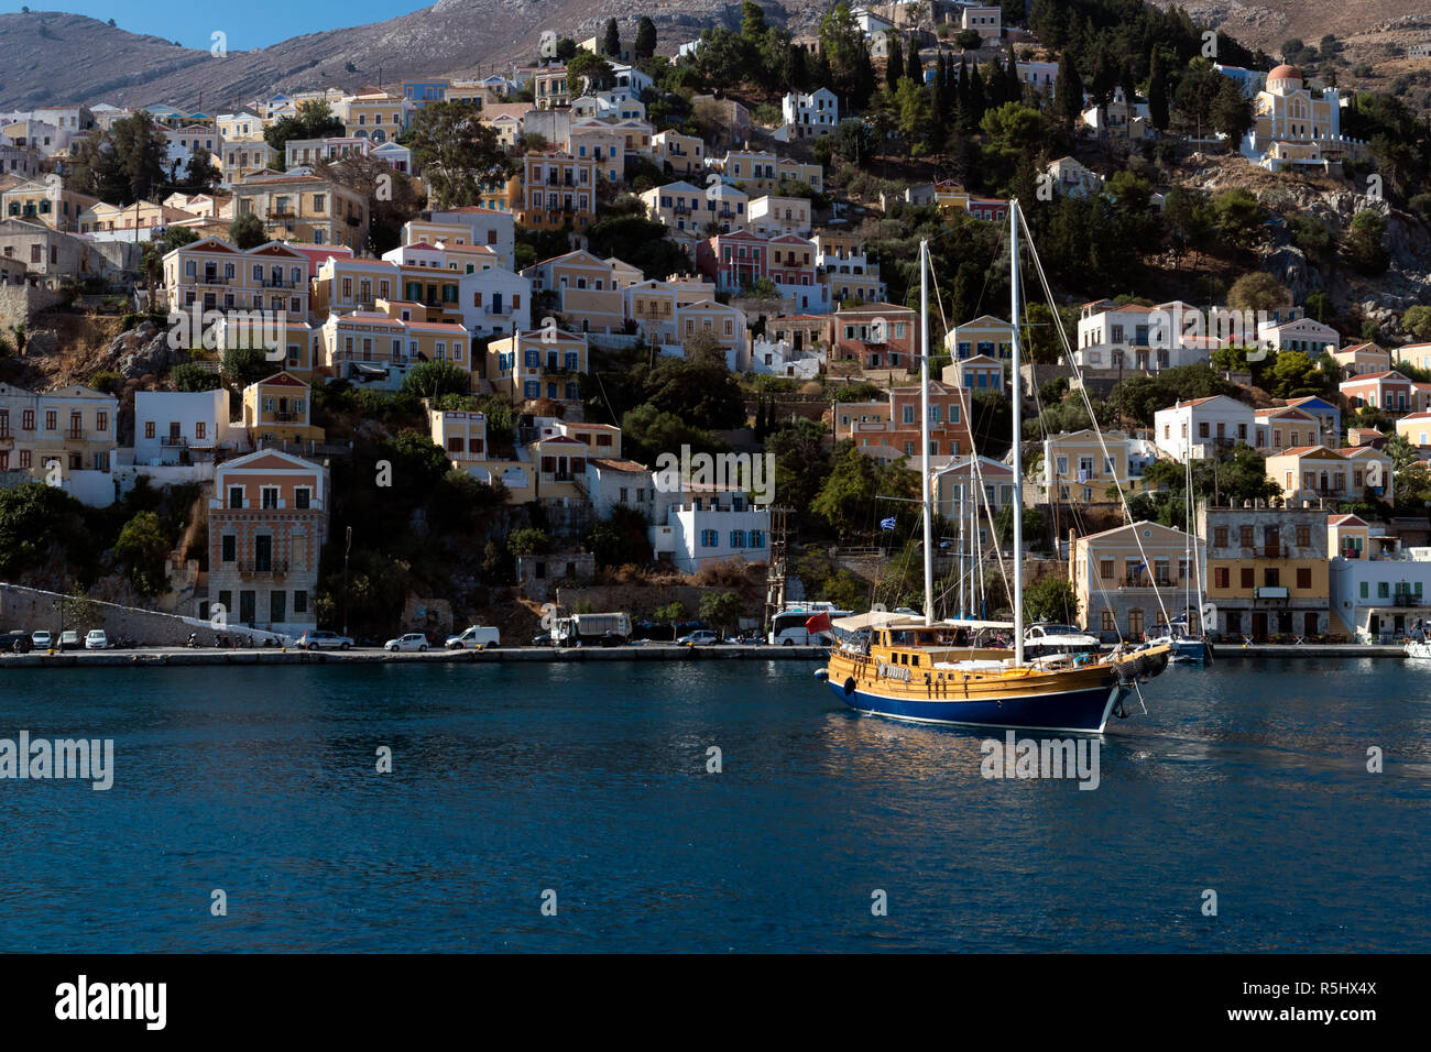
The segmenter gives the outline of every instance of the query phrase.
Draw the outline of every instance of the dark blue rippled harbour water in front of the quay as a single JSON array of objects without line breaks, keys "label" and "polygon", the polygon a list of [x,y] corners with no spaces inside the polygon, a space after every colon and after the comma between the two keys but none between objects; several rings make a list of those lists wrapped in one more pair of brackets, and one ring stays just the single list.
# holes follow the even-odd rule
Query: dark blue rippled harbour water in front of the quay
[{"label": "dark blue rippled harbour water in front of the quay", "polygon": [[1088,792],[816,667],[7,670],[116,770],[0,780],[0,950],[1431,949],[1431,670],[1171,668]]}]

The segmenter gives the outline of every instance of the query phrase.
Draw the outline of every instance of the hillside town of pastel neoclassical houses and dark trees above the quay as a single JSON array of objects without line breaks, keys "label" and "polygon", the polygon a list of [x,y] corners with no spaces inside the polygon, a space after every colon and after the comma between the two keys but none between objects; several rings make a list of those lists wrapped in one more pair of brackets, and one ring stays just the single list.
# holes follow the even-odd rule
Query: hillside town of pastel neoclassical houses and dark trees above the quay
[{"label": "hillside town of pastel neoclassical houses and dark trees above the quay", "polygon": [[0,113],[0,580],[250,640],[527,643],[547,604],[764,638],[922,601],[927,431],[970,615],[1009,615],[1019,517],[1030,618],[1402,640],[1428,132],[1295,43],[747,0],[481,79]]}]

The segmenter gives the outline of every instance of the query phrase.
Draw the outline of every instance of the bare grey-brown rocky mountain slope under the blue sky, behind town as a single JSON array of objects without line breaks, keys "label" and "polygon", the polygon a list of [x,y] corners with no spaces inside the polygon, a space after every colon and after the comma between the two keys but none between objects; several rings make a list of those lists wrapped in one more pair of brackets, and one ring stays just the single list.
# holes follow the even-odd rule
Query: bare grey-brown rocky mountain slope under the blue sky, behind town
[{"label": "bare grey-brown rocky mountain slope under the blue sky, behind town", "polygon": [[[767,4],[767,11],[771,21],[804,27],[824,7],[823,0],[786,0]],[[650,14],[660,50],[674,52],[703,27],[738,24],[740,3],[670,0]],[[166,102],[215,113],[275,90],[487,74],[494,63],[501,69],[534,57],[544,29],[581,40],[600,34],[608,17],[617,19],[624,40],[635,36],[640,14],[620,0],[438,0],[386,21],[215,56],[80,14],[0,14],[0,109]]]}]

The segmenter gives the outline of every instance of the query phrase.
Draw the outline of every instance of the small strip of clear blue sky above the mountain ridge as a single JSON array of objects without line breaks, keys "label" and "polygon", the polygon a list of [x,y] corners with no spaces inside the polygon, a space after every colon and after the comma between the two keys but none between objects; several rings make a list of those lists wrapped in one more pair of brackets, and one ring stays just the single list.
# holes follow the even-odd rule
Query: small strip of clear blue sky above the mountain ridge
[{"label": "small strip of clear blue sky above the mountain ridge", "polygon": [[[209,50],[210,34],[223,30],[229,47],[266,47],[302,33],[382,21],[422,7],[434,0],[245,0],[240,4],[195,3],[195,0],[147,0],[145,3],[94,3],[94,0],[27,0],[31,11],[66,11],[107,21],[113,19],[130,33],[153,33],[186,47]],[[0,0],[0,13],[19,11],[21,3]]]}]

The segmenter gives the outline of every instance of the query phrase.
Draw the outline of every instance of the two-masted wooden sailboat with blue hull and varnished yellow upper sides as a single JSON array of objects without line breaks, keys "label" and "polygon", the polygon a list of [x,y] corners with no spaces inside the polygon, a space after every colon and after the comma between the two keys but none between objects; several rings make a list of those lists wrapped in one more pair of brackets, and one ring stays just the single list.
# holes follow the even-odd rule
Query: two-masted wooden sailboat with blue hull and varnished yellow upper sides
[{"label": "two-masted wooden sailboat with blue hull and varnished yellow upper sides", "polygon": [[1168,667],[1172,648],[1116,647],[1106,654],[1029,658],[1023,624],[1022,384],[1019,382],[1019,202],[1009,202],[1013,398],[1013,654],[960,647],[956,623],[934,621],[933,507],[929,471],[929,242],[919,246],[920,438],[923,447],[924,613],[871,611],[833,621],[826,680],[837,698],[860,713],[914,723],[1102,733],[1123,700]]}]

